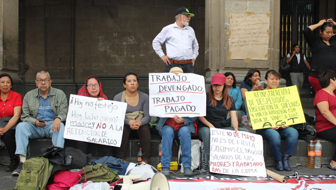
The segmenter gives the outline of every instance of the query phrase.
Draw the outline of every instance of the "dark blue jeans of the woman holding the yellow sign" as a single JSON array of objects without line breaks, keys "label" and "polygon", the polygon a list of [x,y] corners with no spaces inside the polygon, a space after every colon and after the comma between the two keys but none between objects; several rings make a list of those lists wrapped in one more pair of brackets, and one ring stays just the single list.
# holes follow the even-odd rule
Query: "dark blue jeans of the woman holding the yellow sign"
[{"label": "dark blue jeans of the woman holding the yellow sign", "polygon": [[274,130],[271,128],[258,129],[256,133],[261,135],[264,140],[267,140],[275,161],[282,159],[282,154],[280,150],[281,139],[285,139],[283,153],[288,156],[293,156],[296,143],[298,142],[299,133],[293,127],[288,127],[285,129]]}]

